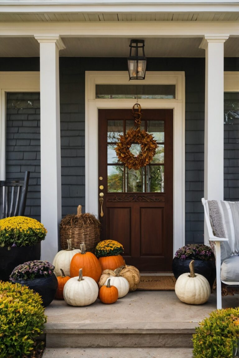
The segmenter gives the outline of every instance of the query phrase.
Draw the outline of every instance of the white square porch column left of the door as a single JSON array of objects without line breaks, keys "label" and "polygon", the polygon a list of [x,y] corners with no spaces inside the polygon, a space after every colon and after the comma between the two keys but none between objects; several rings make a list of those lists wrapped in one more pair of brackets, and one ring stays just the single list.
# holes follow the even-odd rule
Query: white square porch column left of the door
[{"label": "white square porch column left of the door", "polygon": [[57,35],[35,38],[40,43],[41,221],[48,231],[41,257],[52,262],[62,216],[59,50],[65,46]]}]

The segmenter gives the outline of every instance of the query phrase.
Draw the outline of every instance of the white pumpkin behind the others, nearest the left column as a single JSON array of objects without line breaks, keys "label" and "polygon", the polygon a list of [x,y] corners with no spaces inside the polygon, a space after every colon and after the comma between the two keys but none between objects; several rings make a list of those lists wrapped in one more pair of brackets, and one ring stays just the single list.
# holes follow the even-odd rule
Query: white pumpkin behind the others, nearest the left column
[{"label": "white pumpkin behind the others, nearest the left column", "polygon": [[67,250],[61,250],[55,255],[53,259],[53,266],[55,266],[54,274],[58,277],[61,276],[62,269],[65,273],[65,276],[70,276],[70,261],[72,257],[78,253],[81,252],[79,248],[75,248],[72,250],[71,247],[71,239],[67,240],[68,249]]}]

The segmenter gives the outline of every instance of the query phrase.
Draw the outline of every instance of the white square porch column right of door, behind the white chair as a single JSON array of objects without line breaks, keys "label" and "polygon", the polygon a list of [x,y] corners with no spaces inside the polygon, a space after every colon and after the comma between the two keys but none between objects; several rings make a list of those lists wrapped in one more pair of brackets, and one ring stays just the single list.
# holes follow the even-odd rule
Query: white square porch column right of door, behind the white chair
[{"label": "white square porch column right of door, behind the white chair", "polygon": [[[204,197],[223,200],[224,42],[229,35],[205,35]],[[208,232],[204,224],[204,242]]]}]

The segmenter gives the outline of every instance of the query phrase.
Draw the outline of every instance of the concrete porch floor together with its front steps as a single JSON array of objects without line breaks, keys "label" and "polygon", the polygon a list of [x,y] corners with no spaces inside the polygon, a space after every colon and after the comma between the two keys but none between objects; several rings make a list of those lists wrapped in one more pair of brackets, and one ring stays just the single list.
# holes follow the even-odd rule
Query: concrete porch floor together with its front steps
[{"label": "concrete porch floor together with its front steps", "polygon": [[[238,305],[239,295],[223,297],[223,308]],[[97,299],[92,305],[73,307],[54,300],[45,310],[43,357],[166,358],[174,352],[188,358],[195,327],[215,309],[215,293],[204,305],[184,304],[174,291],[136,291],[112,305]]]}]

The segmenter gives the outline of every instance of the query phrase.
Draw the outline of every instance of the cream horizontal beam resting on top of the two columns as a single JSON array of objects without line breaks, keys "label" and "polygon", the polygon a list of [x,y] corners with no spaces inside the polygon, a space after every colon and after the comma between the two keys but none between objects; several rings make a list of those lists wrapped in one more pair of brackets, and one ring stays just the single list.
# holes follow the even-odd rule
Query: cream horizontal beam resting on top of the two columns
[{"label": "cream horizontal beam resting on top of the two columns", "polygon": [[204,37],[229,34],[239,37],[238,22],[86,22],[86,23],[0,23],[0,37]]}]

